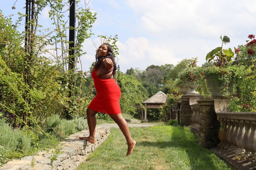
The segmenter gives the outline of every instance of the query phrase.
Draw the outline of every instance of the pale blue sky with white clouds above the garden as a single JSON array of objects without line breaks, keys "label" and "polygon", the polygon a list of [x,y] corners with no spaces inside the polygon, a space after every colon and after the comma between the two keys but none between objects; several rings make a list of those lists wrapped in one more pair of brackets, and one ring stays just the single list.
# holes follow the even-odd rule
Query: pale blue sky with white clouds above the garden
[{"label": "pale blue sky with white clouds above the garden", "polygon": [[[25,13],[25,0],[1,0],[4,15]],[[66,0],[67,1],[67,0]],[[84,0],[79,3],[85,7]],[[150,65],[173,64],[198,57],[206,62],[208,52],[221,46],[220,35],[230,38],[223,48],[246,44],[256,34],[255,0],[90,0],[97,13],[92,26],[94,36],[85,40],[81,57],[83,70],[95,62],[98,35],[118,35],[117,65],[122,72],[130,68],[145,70]],[[15,10],[12,5],[15,3]],[[51,26],[50,7],[42,11],[42,25]],[[67,11],[68,12],[68,11]],[[68,13],[67,13],[68,15]],[[39,18],[40,19],[40,18]]]}]

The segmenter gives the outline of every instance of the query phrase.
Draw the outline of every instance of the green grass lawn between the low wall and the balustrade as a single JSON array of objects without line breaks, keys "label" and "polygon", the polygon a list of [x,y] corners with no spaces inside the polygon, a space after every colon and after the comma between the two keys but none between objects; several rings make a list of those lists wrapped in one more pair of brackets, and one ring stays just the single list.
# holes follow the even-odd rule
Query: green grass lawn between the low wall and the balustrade
[{"label": "green grass lawn between the low wall and the balustrade", "polygon": [[108,139],[77,170],[231,170],[211,150],[199,145],[188,127],[130,128],[137,144],[129,157],[120,129],[111,128]]}]

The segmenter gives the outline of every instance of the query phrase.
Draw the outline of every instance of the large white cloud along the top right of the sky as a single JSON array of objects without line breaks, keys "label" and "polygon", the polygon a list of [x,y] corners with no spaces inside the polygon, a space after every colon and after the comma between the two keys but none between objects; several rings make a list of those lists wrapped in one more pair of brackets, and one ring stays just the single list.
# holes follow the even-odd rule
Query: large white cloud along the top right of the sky
[{"label": "large white cloud along the top right of the sky", "polygon": [[252,23],[256,2],[252,0],[128,0],[127,4],[141,15],[140,31],[158,35],[186,33],[216,37],[225,31],[235,34],[248,23],[256,26]]}]

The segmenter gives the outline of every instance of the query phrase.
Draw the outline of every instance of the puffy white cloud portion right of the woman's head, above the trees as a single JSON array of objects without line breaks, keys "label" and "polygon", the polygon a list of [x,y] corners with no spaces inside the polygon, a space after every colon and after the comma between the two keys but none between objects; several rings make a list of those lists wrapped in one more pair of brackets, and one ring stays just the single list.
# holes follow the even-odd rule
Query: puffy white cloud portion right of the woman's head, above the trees
[{"label": "puffy white cloud portion right of the woman's head, above the trees", "polygon": [[175,58],[172,49],[163,44],[155,44],[144,37],[129,38],[125,43],[118,42],[119,60],[121,71],[140,68],[145,70],[150,65],[176,65],[179,59]]}]

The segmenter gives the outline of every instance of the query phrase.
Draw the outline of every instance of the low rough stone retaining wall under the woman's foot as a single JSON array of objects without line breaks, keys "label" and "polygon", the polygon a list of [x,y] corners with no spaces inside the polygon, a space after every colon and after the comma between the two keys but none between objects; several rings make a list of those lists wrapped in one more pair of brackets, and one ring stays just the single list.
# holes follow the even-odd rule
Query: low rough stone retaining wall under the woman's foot
[{"label": "low rough stone retaining wall under the woman's foot", "polygon": [[32,156],[27,156],[21,160],[12,160],[0,167],[0,170],[75,170],[87,156],[92,153],[100,144],[103,143],[110,134],[109,127],[96,127],[95,144],[91,144],[77,137],[89,136],[89,130],[82,130],[70,135],[65,142],[61,142],[63,153],[53,162],[53,168],[50,166],[51,154],[39,152],[34,156],[35,166],[31,166]]}]

